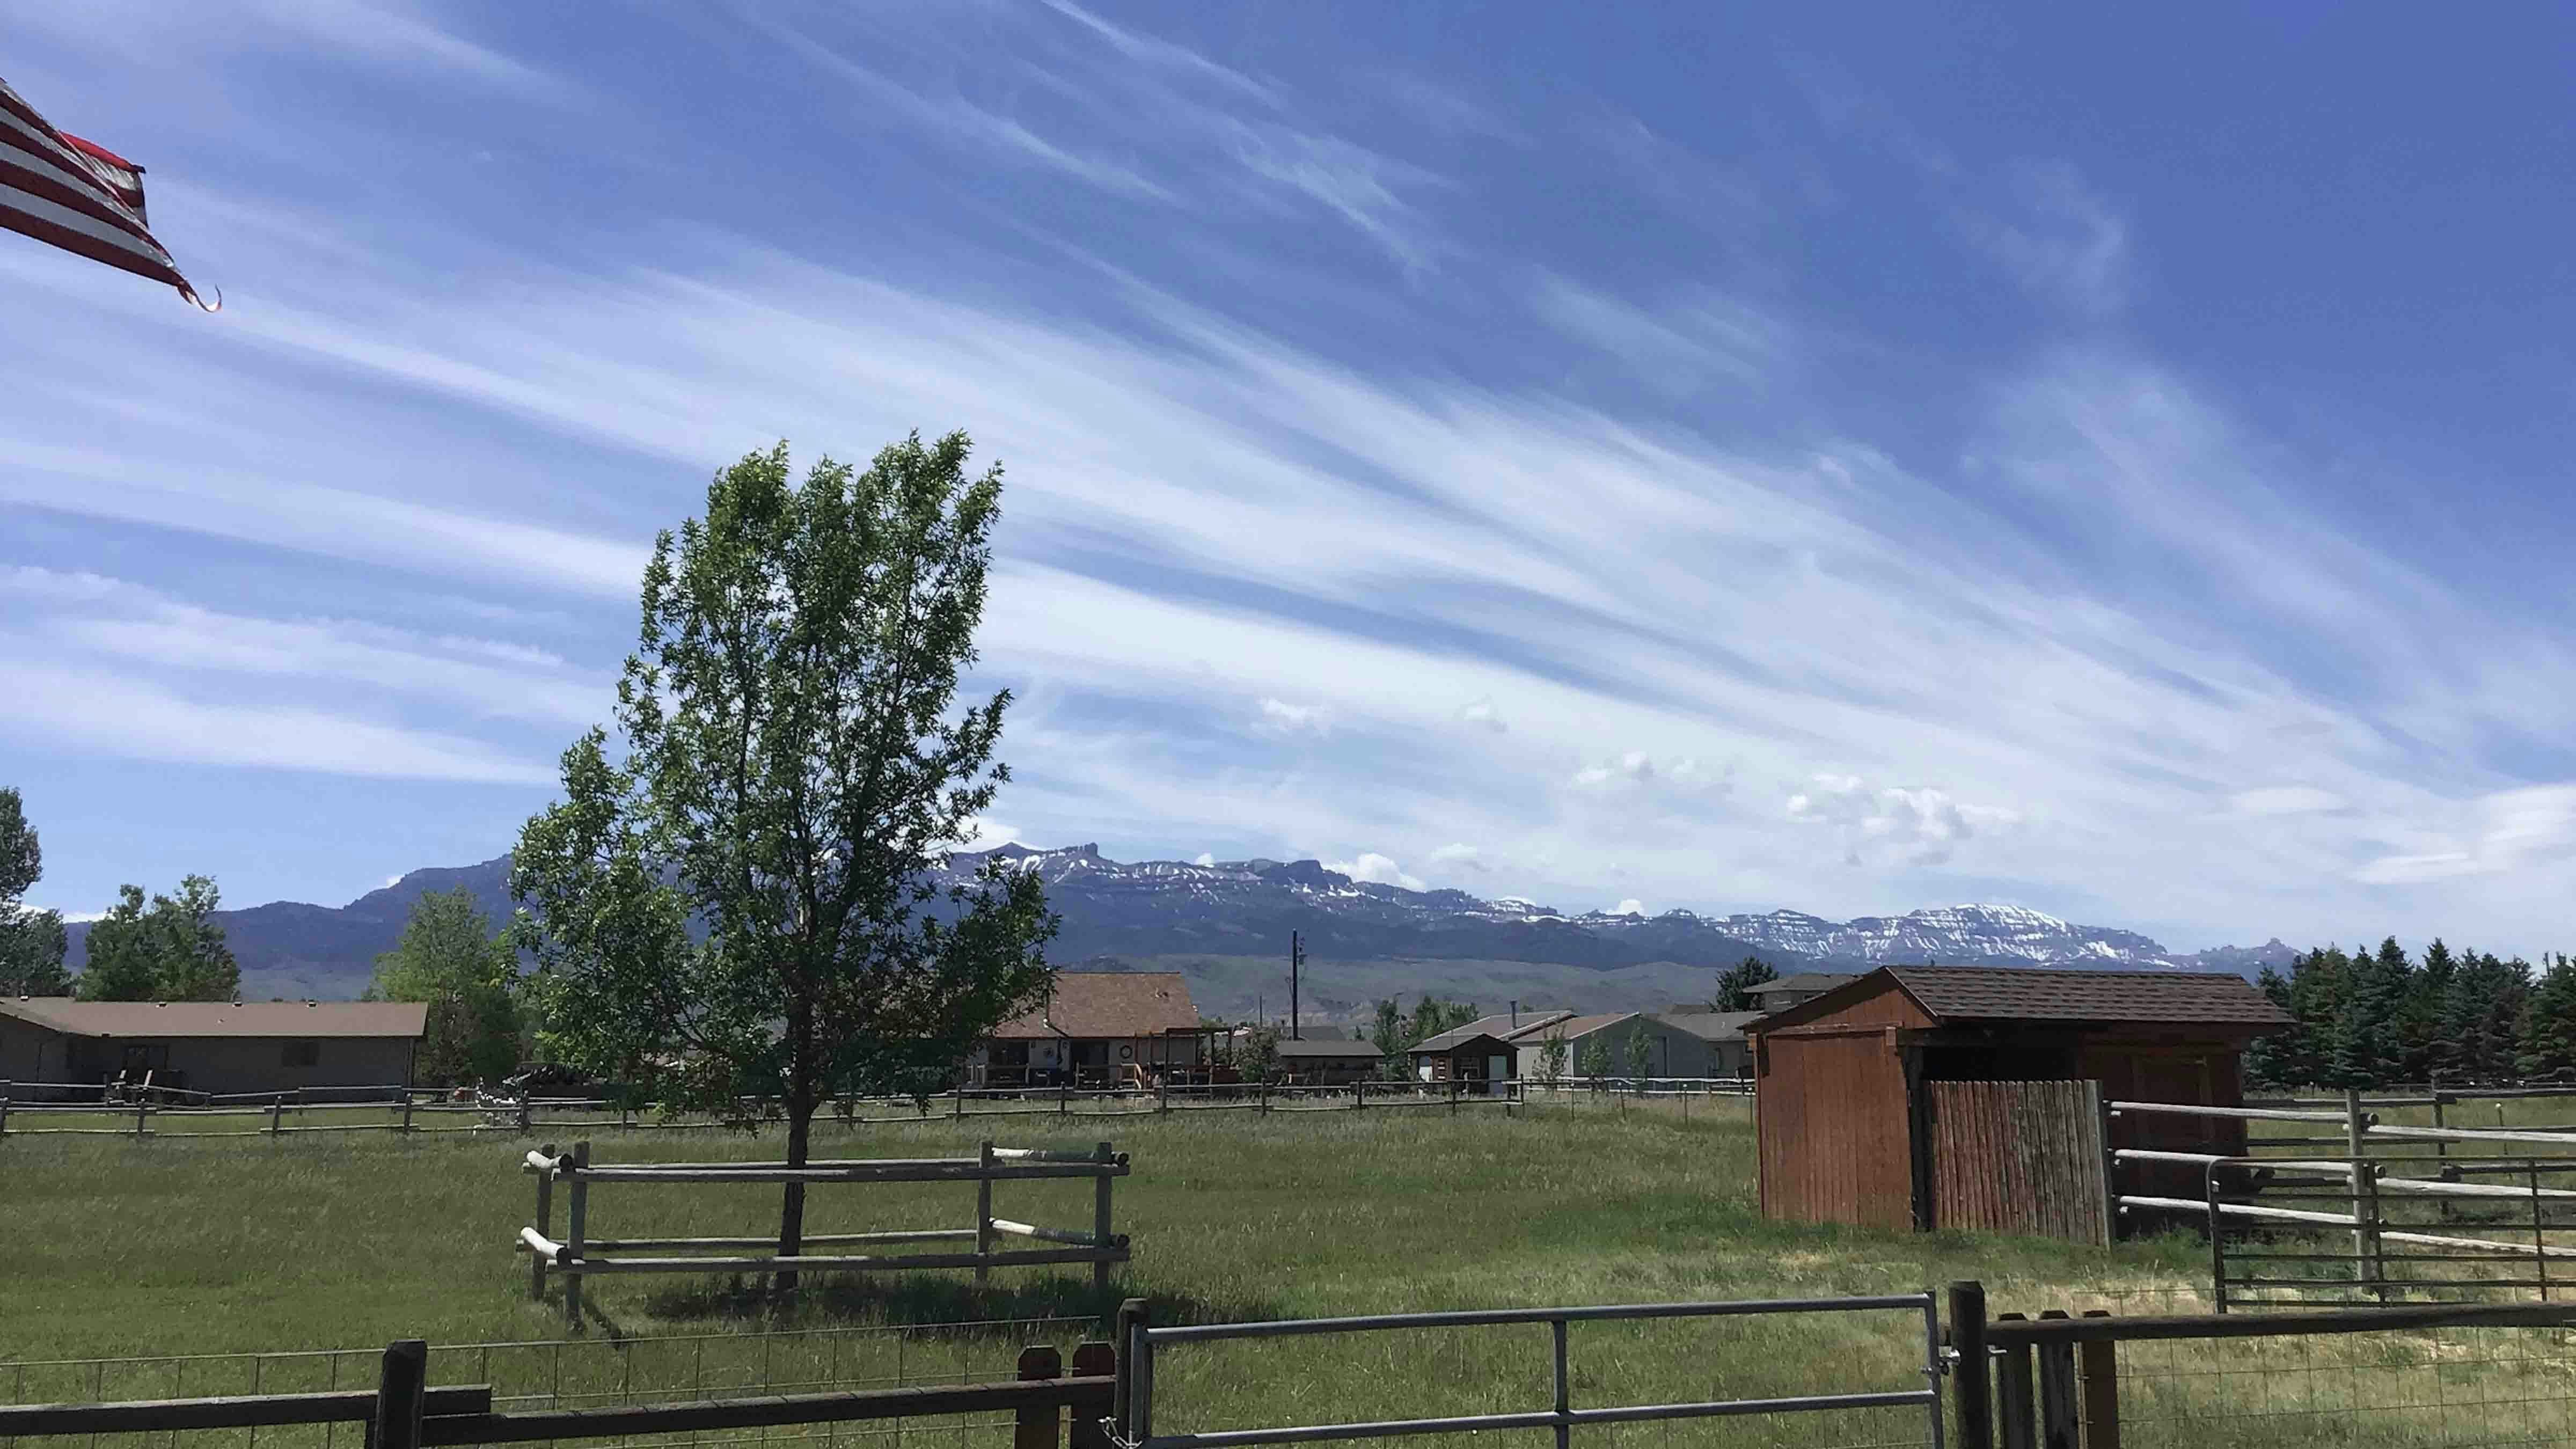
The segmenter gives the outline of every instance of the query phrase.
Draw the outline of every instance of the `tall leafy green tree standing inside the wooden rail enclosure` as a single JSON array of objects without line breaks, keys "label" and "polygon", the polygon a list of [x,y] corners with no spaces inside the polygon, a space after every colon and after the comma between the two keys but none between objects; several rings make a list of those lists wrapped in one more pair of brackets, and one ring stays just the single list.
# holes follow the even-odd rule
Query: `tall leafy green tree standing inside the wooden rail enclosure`
[{"label": "tall leafy green tree standing inside the wooden rail enclosure", "polygon": [[[1046,1000],[1038,877],[935,884],[1010,779],[1010,691],[958,704],[1002,508],[966,459],[966,433],[912,436],[799,485],[778,443],[654,541],[623,753],[564,753],[510,871],[556,1060],[672,1104],[775,1096],[806,1163],[817,1106],[925,1093]],[[778,1253],[801,1243],[788,1183]]]}]

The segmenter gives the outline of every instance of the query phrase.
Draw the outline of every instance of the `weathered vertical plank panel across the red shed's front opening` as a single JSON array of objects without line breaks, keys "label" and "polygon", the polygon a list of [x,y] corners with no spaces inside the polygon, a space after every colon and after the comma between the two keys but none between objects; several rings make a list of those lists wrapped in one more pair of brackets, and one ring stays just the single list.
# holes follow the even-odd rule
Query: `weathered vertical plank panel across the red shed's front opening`
[{"label": "weathered vertical plank panel across the red shed's front opening", "polygon": [[1924,1083],[1932,1225],[2110,1243],[2092,1083]]}]

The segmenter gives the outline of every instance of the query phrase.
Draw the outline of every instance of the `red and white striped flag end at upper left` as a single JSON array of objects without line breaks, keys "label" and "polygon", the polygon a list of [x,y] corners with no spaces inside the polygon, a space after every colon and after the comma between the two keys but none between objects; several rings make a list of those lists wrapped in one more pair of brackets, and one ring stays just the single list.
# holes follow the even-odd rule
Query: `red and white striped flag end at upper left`
[{"label": "red and white striped flag end at upper left", "polygon": [[0,80],[0,227],[167,281],[206,307],[144,224],[144,168],[57,131],[8,80]]}]

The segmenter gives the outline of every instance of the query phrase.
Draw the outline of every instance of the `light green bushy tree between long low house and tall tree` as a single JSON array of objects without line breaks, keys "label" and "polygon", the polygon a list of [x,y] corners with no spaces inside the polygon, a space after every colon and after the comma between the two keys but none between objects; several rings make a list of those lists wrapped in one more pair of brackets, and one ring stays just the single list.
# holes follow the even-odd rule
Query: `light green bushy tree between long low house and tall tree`
[{"label": "light green bushy tree between long low house and tall tree", "polygon": [[428,1083],[500,1080],[518,1065],[518,954],[466,887],[412,902],[402,938],[376,957],[363,1000],[428,1003],[428,1036],[415,1062]]}]

